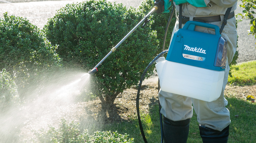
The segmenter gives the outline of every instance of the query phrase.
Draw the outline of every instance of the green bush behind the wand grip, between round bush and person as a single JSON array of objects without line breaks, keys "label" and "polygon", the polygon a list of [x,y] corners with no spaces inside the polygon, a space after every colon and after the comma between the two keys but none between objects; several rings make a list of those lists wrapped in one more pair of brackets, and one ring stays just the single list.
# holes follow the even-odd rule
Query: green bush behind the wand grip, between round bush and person
[{"label": "green bush behind the wand grip, between round bush and person", "polygon": [[[151,8],[154,7],[154,1],[153,0],[143,0],[141,2],[141,4],[139,5],[138,10],[141,11],[142,13],[146,14],[148,13]],[[169,10],[171,11],[172,7],[169,8]],[[163,45],[163,38],[164,38],[164,33],[165,33],[165,28],[168,22],[168,19],[170,17],[170,13],[153,13],[150,16],[150,20],[153,21],[154,23],[151,25],[151,28],[153,30],[157,31],[157,38],[159,40],[160,46],[161,48],[158,50],[158,53],[161,52],[162,50],[162,45]],[[172,31],[173,28],[175,26],[176,23],[176,17],[175,14],[173,15],[173,18],[171,20],[170,26],[168,28],[168,33],[167,33],[167,37],[166,37],[166,43],[165,43],[165,49],[169,48],[169,43],[171,40],[171,36],[172,36]]]}]

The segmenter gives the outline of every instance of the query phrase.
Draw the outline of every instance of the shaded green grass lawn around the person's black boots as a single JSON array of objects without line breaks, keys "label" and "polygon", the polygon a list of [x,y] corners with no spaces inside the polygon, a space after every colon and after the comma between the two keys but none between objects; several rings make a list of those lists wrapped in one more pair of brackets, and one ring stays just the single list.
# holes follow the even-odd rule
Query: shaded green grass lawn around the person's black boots
[{"label": "shaded green grass lawn around the person's black boots", "polygon": [[[256,103],[237,99],[235,96],[226,97],[227,108],[230,111],[229,143],[255,143],[256,142]],[[149,143],[160,143],[160,123],[158,105],[152,106],[149,114],[141,115],[143,129]],[[106,126],[106,131],[117,131],[119,134],[127,133],[134,138],[135,143],[144,143],[139,130],[137,117],[130,122],[113,123]],[[188,143],[200,143],[197,116],[194,113],[190,122]]]}]

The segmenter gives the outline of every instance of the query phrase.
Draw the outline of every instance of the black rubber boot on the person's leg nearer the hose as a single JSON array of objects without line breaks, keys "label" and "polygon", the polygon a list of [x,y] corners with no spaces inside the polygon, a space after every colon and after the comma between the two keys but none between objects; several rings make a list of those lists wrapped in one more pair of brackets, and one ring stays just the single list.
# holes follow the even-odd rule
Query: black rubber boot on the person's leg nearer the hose
[{"label": "black rubber boot on the person's leg nearer the hose", "polygon": [[165,143],[186,143],[190,119],[172,121],[163,117],[163,139]]}]

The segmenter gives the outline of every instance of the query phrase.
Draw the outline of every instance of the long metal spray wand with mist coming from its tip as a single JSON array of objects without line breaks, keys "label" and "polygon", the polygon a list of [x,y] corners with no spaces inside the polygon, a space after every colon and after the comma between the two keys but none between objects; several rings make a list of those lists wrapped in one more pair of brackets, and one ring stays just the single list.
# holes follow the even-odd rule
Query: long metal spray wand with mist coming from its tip
[{"label": "long metal spray wand with mist coming from its tip", "polygon": [[148,20],[148,16],[150,15],[150,14],[152,14],[155,10],[157,10],[158,9],[158,6],[154,6],[151,10],[150,10],[150,12],[119,42],[119,43],[117,43],[117,45],[115,46],[115,47],[113,47],[112,49],[111,49],[111,51],[92,69],[92,70],[90,70],[90,71],[88,71],[88,73],[89,74],[93,74],[93,73],[95,73],[95,72],[97,72],[98,71],[98,69],[97,69],[97,67],[111,54],[111,53],[113,53],[113,52],[115,52],[116,51],[116,49],[117,49],[117,47],[118,46],[120,46],[121,45],[121,43],[127,38],[127,37],[129,37],[132,33],[133,33],[133,31],[135,31],[138,27],[139,27],[139,25],[140,24],[142,24],[143,22],[144,22],[144,24],[143,24],[143,27],[145,26],[145,24],[147,23],[147,22],[149,22],[149,20]]}]

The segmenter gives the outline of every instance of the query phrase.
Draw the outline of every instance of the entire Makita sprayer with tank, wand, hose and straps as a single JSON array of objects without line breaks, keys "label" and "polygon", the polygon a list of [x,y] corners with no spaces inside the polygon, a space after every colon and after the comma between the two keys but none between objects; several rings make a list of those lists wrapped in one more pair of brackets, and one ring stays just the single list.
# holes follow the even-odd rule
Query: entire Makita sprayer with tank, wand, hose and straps
[{"label": "entire Makita sprayer with tank, wand, hose and straps", "polygon": [[[111,54],[117,47],[143,22],[147,23],[148,16],[157,10],[157,13],[163,12],[163,0],[156,0],[155,7],[137,24],[111,51],[88,73],[95,73],[97,67]],[[180,5],[182,6],[182,5]],[[144,135],[142,123],[139,114],[139,94],[142,81],[148,69],[156,62],[156,69],[159,76],[159,88],[165,92],[175,93],[207,102],[216,100],[222,91],[224,78],[227,41],[221,37],[221,32],[226,24],[231,8],[228,8],[224,16],[224,22],[221,29],[212,24],[203,22],[188,21],[183,28],[181,23],[179,30],[173,34],[169,50],[164,50],[165,40],[169,24],[174,14],[172,8],[169,20],[166,25],[163,40],[162,52],[156,56],[146,67],[141,75],[136,98],[136,109],[139,120],[141,135],[147,143]],[[179,19],[181,20],[181,7]],[[211,28],[215,34],[208,34],[195,31],[196,26]],[[211,39],[211,40],[209,40]],[[169,51],[169,52],[168,52]],[[163,54],[167,53],[166,59]],[[159,102],[159,113],[161,105]],[[161,143],[163,142],[162,115],[160,114]]]}]

